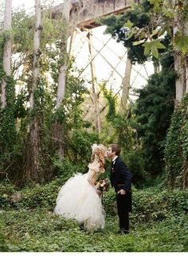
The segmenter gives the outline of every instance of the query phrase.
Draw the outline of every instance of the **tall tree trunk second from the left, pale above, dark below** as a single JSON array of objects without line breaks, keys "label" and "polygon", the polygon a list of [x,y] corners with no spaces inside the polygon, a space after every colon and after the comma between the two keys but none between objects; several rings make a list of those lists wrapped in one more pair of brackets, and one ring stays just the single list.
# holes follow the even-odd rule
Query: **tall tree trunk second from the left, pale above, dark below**
[{"label": "tall tree trunk second from the left, pale above, dark below", "polygon": [[[30,110],[35,109],[34,93],[37,90],[39,77],[39,46],[41,41],[41,1],[35,0],[35,30],[33,38],[33,81],[30,94]],[[25,145],[25,170],[26,182],[36,181],[39,173],[39,148],[40,148],[40,118],[36,113],[31,118],[29,134]]]}]

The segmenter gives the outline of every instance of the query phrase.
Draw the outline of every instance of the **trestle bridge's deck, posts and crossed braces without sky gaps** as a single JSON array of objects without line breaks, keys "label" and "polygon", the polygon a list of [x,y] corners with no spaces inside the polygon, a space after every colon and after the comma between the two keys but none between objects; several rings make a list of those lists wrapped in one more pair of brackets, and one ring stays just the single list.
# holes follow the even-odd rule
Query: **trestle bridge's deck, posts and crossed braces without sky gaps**
[{"label": "trestle bridge's deck, posts and crossed braces without sky gaps", "polygon": [[[78,74],[78,78],[84,75],[84,71],[90,66],[91,70],[91,82],[92,87],[90,91],[90,98],[92,100],[92,107],[91,104],[85,110],[84,118],[89,119],[90,121],[95,122],[96,130],[100,133],[100,114],[105,110],[106,104],[101,102],[100,98],[100,89],[98,87],[98,78],[96,75],[96,67],[95,67],[95,58],[100,55],[103,58],[104,62],[111,67],[112,71],[109,75],[108,79],[105,83],[108,84],[110,79],[113,77],[113,74],[117,74],[119,78],[122,79],[122,84],[119,87],[119,90],[116,92],[115,97],[122,92],[121,96],[121,103],[119,107],[119,111],[123,114],[127,110],[127,102],[131,102],[131,98],[129,97],[129,91],[131,86],[134,85],[135,80],[140,76],[144,80],[147,81],[148,74],[147,69],[144,66],[144,70],[147,76],[141,73],[142,67],[137,70],[134,65],[131,65],[131,62],[127,59],[127,50],[123,56],[119,56],[116,53],[116,50],[113,50],[111,47],[108,46],[108,42],[112,40],[112,37],[109,37],[106,42],[97,38],[96,35],[93,35],[92,30],[100,25],[100,22],[97,22],[98,18],[104,17],[109,14],[122,14],[124,11],[131,7],[131,1],[129,0],[72,0],[72,6],[70,9],[70,30],[73,31],[70,37],[69,43],[69,54],[70,56],[74,57],[75,60],[78,58],[79,53],[77,56],[74,54],[74,49],[76,47],[79,48],[79,52],[81,51],[82,47],[88,43],[88,63],[84,68],[80,70]],[[57,15],[62,13],[63,4],[56,6],[53,9],[53,16],[56,17]],[[76,36],[80,36],[80,40],[82,45],[76,46]],[[98,40],[102,44],[100,49],[97,49],[96,46],[93,44],[93,38]],[[108,58],[104,56],[102,50],[107,48],[109,50],[109,54],[115,54],[116,58],[119,59],[119,62],[114,65],[111,63]],[[125,64],[125,71],[124,74],[120,74],[118,70],[118,66],[123,62]],[[133,82],[131,82],[131,71],[135,71],[135,77],[133,78]],[[131,94],[132,95],[132,94]],[[92,119],[92,120],[91,120]]]}]

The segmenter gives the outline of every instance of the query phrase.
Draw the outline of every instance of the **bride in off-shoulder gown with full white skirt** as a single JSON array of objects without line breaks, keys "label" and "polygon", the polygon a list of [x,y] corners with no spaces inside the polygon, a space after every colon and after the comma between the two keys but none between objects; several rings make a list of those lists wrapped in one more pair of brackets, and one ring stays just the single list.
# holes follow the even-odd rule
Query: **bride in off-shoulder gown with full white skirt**
[{"label": "bride in off-shoulder gown with full white skirt", "polygon": [[84,229],[89,231],[104,228],[104,209],[95,182],[105,171],[106,157],[105,147],[93,144],[92,162],[88,164],[88,173],[78,173],[69,178],[57,196],[54,212],[84,223]]}]

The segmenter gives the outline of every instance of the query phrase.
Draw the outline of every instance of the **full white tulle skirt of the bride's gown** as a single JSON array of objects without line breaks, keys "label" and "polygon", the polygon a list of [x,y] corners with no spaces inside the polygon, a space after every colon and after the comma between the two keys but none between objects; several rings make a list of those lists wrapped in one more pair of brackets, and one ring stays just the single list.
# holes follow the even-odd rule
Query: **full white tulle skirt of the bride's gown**
[{"label": "full white tulle skirt of the bride's gown", "polygon": [[54,212],[65,218],[74,218],[92,231],[104,228],[104,208],[87,178],[88,174],[79,173],[65,182],[57,196]]}]

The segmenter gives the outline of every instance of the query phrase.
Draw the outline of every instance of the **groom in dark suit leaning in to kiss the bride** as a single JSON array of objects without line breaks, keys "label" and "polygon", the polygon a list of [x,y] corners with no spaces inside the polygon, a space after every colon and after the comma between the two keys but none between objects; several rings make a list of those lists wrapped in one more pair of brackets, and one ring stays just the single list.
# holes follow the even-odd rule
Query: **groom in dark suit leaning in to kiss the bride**
[{"label": "groom in dark suit leaning in to kiss the bride", "polygon": [[108,147],[108,158],[112,159],[111,184],[116,191],[116,203],[119,216],[119,234],[129,233],[129,212],[131,211],[132,174],[125,162],[119,158],[120,149],[116,144]]}]

